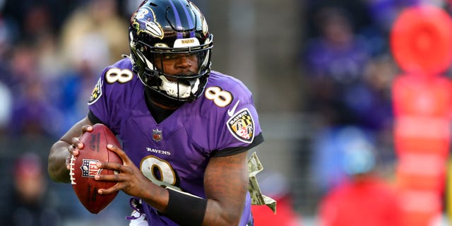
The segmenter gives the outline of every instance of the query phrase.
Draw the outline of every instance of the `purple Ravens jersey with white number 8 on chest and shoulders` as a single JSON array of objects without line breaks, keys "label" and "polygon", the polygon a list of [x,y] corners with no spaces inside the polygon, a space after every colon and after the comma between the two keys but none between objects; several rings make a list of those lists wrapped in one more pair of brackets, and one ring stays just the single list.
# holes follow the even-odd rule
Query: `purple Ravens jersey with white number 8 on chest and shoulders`
[{"label": "purple Ravens jersey with white number 8 on chest and shoulders", "polygon": [[[204,170],[210,157],[263,141],[251,92],[236,78],[212,71],[204,94],[157,123],[130,59],[109,66],[95,85],[90,112],[119,136],[123,149],[155,184],[206,198]],[[148,206],[149,225],[176,225]],[[146,209],[147,210],[147,209]],[[251,218],[251,200],[240,225]]]}]

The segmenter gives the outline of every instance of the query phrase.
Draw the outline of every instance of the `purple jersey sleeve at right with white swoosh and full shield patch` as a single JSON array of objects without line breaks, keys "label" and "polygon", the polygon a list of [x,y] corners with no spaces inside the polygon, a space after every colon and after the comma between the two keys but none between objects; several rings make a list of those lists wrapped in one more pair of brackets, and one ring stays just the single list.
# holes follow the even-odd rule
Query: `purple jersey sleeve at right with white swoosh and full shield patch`
[{"label": "purple jersey sleeve at right with white swoosh and full shield patch", "polygon": [[[215,81],[215,77],[214,77]],[[215,84],[215,83],[214,83]],[[242,153],[263,142],[261,125],[258,120],[258,113],[254,105],[251,92],[246,86],[236,78],[226,77],[216,83],[218,86],[206,88],[208,100],[213,100],[216,111],[215,136],[211,143],[212,155],[215,157],[234,155]],[[209,90],[211,89],[211,90]],[[211,97],[209,95],[212,94]],[[230,99],[229,96],[230,95]],[[226,102],[222,107],[222,102]]]}]

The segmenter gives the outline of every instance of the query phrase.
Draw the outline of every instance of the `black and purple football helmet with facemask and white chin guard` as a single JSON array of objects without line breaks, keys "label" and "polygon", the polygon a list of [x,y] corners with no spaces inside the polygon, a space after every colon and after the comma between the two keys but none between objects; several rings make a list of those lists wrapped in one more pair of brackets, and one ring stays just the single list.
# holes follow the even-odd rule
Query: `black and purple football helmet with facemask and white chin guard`
[{"label": "black and purple football helmet with facemask and white chin guard", "polygon": [[[143,1],[131,17],[129,40],[133,71],[145,85],[148,98],[179,106],[201,96],[210,73],[213,35],[191,1]],[[160,65],[161,59],[187,55],[196,57],[197,72],[172,75]]]}]

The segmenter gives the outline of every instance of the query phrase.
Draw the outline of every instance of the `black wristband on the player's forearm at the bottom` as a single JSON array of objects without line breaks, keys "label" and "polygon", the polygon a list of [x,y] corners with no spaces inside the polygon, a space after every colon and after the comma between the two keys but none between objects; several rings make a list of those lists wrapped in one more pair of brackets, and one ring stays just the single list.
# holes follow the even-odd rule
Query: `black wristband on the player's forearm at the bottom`
[{"label": "black wristband on the player's forearm at the bottom", "polygon": [[169,194],[165,215],[179,225],[202,225],[207,199],[167,188]]}]

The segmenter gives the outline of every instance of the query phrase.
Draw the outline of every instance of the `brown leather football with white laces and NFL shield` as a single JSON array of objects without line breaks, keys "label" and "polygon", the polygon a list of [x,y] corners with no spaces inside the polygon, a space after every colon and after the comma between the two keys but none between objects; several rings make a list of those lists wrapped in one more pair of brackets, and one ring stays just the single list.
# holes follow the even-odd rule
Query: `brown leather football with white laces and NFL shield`
[{"label": "brown leather football with white laces and NFL shield", "polygon": [[84,146],[78,156],[71,157],[70,176],[73,190],[78,200],[90,213],[100,213],[117,196],[117,192],[100,195],[99,189],[108,189],[116,182],[96,181],[95,174],[115,174],[111,169],[97,168],[97,162],[117,162],[122,164],[121,158],[111,150],[107,144],[120,147],[116,136],[104,124],[95,124],[93,131],[83,133],[80,141]]}]

